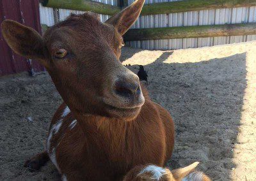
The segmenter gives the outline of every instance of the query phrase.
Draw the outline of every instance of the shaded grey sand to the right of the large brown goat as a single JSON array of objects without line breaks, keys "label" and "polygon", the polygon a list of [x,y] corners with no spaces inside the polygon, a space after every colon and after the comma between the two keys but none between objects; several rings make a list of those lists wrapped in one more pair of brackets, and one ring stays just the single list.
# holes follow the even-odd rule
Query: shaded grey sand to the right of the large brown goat
[{"label": "shaded grey sand to the right of the large brown goat", "polygon": [[175,121],[176,143],[169,166],[200,161],[199,170],[212,180],[231,179],[246,89],[246,53],[164,63],[170,53],[145,66],[151,98],[167,108]]}]

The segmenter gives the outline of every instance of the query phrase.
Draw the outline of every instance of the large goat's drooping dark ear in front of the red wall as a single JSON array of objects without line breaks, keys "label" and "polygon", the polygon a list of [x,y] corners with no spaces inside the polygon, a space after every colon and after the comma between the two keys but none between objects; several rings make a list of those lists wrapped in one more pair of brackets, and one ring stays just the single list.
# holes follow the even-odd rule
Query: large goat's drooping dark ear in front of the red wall
[{"label": "large goat's drooping dark ear in front of the red wall", "polygon": [[45,66],[45,45],[40,34],[13,20],[4,20],[1,29],[4,40],[16,54],[37,59]]}]

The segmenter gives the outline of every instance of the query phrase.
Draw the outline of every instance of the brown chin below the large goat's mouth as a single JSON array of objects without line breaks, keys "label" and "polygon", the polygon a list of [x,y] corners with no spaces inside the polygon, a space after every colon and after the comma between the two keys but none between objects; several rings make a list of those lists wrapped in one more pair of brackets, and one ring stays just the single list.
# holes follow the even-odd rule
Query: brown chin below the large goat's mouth
[{"label": "brown chin below the large goat's mouth", "polygon": [[141,110],[141,106],[136,108],[116,108],[114,106],[109,106],[107,108],[108,115],[110,117],[115,117],[117,119],[122,119],[125,121],[131,121],[136,119]]}]

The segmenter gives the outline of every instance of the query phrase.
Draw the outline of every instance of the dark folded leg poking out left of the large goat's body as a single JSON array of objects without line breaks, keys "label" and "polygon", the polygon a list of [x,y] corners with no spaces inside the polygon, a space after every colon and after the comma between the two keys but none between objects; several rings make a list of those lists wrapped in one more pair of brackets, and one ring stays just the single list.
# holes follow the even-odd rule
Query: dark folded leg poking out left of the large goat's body
[{"label": "dark folded leg poking out left of the large goat's body", "polygon": [[47,161],[49,161],[49,156],[48,153],[44,151],[25,161],[24,167],[27,167],[31,171],[39,170]]}]

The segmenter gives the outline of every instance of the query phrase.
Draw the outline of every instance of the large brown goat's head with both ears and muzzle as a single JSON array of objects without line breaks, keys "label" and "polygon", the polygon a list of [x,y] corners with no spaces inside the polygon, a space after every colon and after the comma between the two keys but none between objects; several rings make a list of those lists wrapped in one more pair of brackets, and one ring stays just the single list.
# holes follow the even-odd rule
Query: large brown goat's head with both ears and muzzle
[{"label": "large brown goat's head with both ears and muzzle", "polygon": [[12,20],[2,33],[19,55],[45,66],[71,109],[131,120],[145,102],[137,75],[119,61],[122,35],[140,15],[145,0],[137,0],[105,23],[87,12],[70,15],[44,36]]}]

